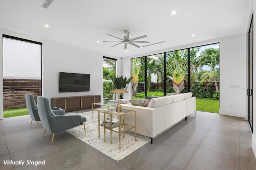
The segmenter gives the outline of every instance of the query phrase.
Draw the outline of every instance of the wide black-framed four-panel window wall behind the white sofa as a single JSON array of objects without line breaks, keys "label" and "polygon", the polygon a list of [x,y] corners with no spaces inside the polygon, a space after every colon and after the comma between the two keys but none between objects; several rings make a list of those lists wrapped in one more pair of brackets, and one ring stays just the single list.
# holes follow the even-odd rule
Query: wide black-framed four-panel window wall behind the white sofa
[{"label": "wide black-framed four-panel window wall behind the white sofa", "polygon": [[[145,78],[145,91],[133,88],[133,99],[193,92],[197,100],[196,110],[219,112],[219,43],[141,58],[144,62],[140,62],[140,65],[141,68],[144,66],[145,71],[136,80]],[[137,60],[139,58],[131,59],[131,76],[140,75],[133,71]]]}]

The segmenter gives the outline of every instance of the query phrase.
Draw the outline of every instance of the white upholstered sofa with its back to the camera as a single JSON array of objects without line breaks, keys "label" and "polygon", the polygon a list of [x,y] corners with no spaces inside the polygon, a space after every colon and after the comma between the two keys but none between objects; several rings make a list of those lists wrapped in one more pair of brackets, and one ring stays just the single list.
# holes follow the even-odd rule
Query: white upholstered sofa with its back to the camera
[{"label": "white upholstered sofa with its back to the camera", "polygon": [[[192,93],[176,94],[152,98],[148,107],[121,104],[122,109],[136,111],[136,133],[148,136],[151,143],[154,137],[180,122],[183,118],[196,113],[196,98]],[[134,115],[127,114],[125,123],[134,124]],[[132,130],[134,131],[134,130]]]}]

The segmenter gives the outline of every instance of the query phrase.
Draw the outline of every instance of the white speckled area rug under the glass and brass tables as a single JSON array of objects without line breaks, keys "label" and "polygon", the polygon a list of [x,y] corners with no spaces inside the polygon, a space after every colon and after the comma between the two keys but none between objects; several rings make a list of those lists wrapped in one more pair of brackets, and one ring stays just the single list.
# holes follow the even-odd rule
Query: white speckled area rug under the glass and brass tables
[{"label": "white speckled area rug under the glass and brass tables", "polygon": [[[80,113],[80,115],[87,119],[85,122],[86,136],[84,126],[77,126],[66,131],[114,160],[121,160],[150,141],[149,137],[140,134],[136,134],[137,141],[134,141],[134,132],[128,131],[125,133],[125,138],[121,136],[121,150],[119,150],[118,133],[112,133],[112,144],[110,144],[110,130],[106,129],[106,142],[104,142],[104,127],[100,126],[100,138],[98,138],[98,112],[94,112],[94,117],[92,117],[92,112]],[[103,114],[100,115],[103,120]]]}]

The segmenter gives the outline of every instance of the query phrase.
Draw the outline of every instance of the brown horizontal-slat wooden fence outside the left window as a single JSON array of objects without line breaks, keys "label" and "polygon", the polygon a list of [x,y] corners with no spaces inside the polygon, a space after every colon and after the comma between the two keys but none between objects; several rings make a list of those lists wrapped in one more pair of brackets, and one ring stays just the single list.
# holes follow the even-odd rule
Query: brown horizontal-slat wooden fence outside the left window
[{"label": "brown horizontal-slat wooden fence outside the left window", "polygon": [[26,93],[30,93],[33,96],[41,96],[41,80],[4,78],[4,110],[26,108]]}]

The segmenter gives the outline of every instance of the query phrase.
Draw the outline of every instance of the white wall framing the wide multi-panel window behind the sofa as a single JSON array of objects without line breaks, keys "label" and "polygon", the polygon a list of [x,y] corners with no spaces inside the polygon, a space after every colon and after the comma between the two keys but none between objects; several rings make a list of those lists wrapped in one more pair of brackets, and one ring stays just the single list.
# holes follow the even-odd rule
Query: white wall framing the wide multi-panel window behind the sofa
[{"label": "white wall framing the wide multi-panel window behind the sofa", "polygon": [[[206,44],[220,43],[220,114],[245,117],[246,114],[246,34],[178,46],[122,59],[122,74],[130,76],[130,58],[153,55]],[[230,88],[239,85],[239,88]],[[130,89],[129,89],[130,90]],[[129,91],[130,92],[130,91]],[[130,94],[129,96],[130,97]],[[232,105],[232,107],[230,107]]]}]

